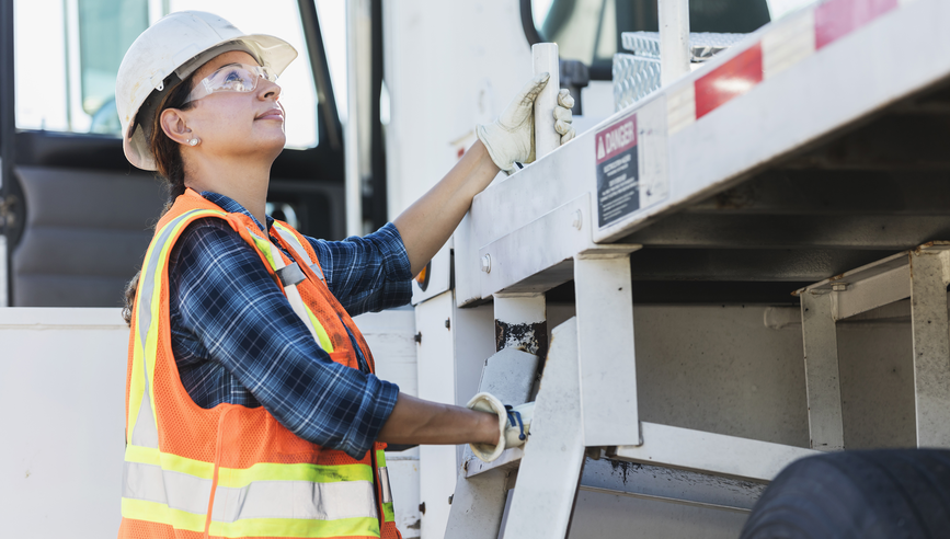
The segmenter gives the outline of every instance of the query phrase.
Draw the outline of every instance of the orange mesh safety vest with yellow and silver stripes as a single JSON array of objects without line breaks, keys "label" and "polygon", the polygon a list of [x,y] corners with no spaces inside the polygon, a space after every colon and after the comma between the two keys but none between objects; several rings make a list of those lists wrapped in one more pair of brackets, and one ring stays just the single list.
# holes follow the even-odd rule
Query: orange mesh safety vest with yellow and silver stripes
[{"label": "orange mesh safety vest with yellow and silver stripes", "polygon": [[348,328],[375,370],[363,335],[299,232],[274,223],[288,257],[251,218],[187,190],[156,227],[133,311],[118,537],[401,538],[385,444],[354,459],[297,437],[263,406],[202,409],[182,386],[169,328],[169,255],[188,223],[206,217],[226,220],[257,251],[331,359],[358,368]]}]

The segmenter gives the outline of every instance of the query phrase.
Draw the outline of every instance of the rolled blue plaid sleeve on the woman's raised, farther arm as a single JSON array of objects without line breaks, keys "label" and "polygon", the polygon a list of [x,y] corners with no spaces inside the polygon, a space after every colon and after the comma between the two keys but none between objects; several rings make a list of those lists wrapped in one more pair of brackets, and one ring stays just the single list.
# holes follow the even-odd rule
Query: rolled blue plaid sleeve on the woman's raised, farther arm
[{"label": "rolled blue plaid sleeve on the woman's raised, farther arm", "polygon": [[362,238],[307,240],[317,252],[327,287],[350,316],[400,307],[412,299],[409,254],[393,223]]}]

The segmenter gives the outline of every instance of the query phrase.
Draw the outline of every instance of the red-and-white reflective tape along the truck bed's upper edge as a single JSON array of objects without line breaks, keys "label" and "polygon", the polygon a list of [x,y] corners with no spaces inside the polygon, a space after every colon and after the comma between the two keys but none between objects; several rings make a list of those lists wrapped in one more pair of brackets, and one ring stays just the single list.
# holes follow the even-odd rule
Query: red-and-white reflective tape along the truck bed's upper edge
[{"label": "red-and-white reflective tape along the truck bed's upper edge", "polygon": [[776,24],[762,39],[667,94],[673,135],[756,84],[913,0],[827,0]]}]

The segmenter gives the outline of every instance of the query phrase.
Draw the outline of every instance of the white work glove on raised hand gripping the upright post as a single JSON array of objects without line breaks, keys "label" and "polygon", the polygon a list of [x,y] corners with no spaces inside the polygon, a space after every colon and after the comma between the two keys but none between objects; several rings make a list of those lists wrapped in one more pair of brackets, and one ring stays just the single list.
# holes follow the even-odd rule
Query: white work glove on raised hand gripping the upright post
[{"label": "white work glove on raised hand gripping the upright post", "polygon": [[[512,173],[515,163],[530,163],[535,160],[535,100],[548,83],[550,76],[542,73],[530,80],[508,103],[493,123],[476,127],[476,135],[485,145],[492,161],[499,169]],[[571,107],[574,99],[568,90],[558,93],[554,107],[554,130],[561,135],[561,144],[574,138]]]}]

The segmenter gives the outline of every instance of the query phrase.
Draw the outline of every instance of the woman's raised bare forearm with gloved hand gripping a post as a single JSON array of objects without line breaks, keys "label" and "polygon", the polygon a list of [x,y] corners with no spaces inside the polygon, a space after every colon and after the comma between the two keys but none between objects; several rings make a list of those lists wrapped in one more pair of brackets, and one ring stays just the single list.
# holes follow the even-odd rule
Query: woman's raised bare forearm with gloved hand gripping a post
[{"label": "woman's raised bare forearm with gloved hand gripping a post", "polygon": [[[402,236],[413,275],[445,244],[471,207],[472,198],[488,187],[500,170],[512,172],[515,162],[534,161],[534,104],[548,78],[545,73],[533,79],[494,123],[478,126],[479,140],[442,181],[396,218],[393,223]],[[574,137],[573,105],[570,94],[562,90],[554,110],[561,144]]]}]

